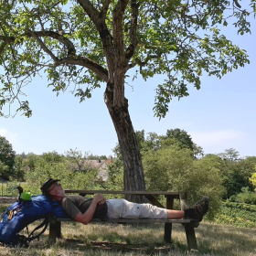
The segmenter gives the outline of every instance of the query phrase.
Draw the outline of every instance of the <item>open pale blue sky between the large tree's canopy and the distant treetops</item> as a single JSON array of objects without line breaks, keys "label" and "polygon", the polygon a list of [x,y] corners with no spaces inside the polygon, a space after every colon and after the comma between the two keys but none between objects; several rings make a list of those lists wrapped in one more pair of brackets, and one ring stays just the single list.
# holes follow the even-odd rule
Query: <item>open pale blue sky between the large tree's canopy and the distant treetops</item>
[{"label": "open pale blue sky between the large tree's canopy and the distant treetops", "polygon": [[[221,80],[204,75],[201,89],[189,86],[189,96],[171,101],[164,119],[159,121],[153,112],[155,88],[163,77],[130,81],[132,86],[126,86],[125,97],[134,130],[164,135],[168,129],[179,128],[190,134],[205,154],[234,148],[240,157],[256,155],[256,20],[250,21],[251,35],[239,36],[233,27],[223,32],[247,50],[251,64],[234,69]],[[113,155],[118,141],[103,101],[104,86],[93,91],[91,99],[80,103],[69,90],[57,97],[47,85],[46,77],[37,77],[24,89],[32,117],[20,113],[14,118],[0,117],[0,135],[13,145],[16,154],[64,154],[77,149],[93,155]]]}]

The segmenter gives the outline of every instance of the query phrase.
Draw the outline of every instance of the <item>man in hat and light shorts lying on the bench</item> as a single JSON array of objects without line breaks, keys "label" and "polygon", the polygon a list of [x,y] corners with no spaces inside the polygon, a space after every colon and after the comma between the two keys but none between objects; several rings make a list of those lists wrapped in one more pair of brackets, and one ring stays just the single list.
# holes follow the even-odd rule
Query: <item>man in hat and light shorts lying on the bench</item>
[{"label": "man in hat and light shorts lying on the bench", "polygon": [[65,196],[59,179],[49,178],[41,187],[42,194],[59,202],[71,219],[87,225],[91,219],[197,219],[208,212],[208,197],[202,197],[185,210],[158,208],[151,204],[136,204],[125,199],[106,200],[101,194],[93,198]]}]

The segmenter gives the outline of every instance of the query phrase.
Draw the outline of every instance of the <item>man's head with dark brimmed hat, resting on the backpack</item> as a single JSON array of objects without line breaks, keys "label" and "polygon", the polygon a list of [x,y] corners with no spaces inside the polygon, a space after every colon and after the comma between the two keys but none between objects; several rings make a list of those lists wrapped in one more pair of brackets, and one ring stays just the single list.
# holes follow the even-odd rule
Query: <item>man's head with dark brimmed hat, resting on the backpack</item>
[{"label": "man's head with dark brimmed hat, resting on the backpack", "polygon": [[60,179],[49,178],[41,187],[42,194],[57,200],[59,197],[65,197],[64,191],[58,181]]}]

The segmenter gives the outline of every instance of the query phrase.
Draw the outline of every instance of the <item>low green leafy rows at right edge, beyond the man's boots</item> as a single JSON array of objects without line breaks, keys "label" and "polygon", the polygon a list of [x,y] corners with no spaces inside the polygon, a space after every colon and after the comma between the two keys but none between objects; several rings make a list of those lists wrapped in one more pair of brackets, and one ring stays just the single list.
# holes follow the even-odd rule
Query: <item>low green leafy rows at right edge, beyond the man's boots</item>
[{"label": "low green leafy rows at right edge, beyond the man's boots", "polygon": [[256,206],[241,203],[222,202],[215,216],[215,221],[221,224],[231,224],[236,227],[256,227]]}]

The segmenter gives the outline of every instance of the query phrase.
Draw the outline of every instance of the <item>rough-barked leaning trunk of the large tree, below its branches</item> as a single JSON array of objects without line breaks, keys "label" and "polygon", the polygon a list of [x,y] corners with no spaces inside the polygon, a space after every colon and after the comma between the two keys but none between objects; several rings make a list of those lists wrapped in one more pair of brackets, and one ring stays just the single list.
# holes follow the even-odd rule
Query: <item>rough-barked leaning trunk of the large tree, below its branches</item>
[{"label": "rough-barked leaning trunk of the large tree, below its branches", "polygon": [[[105,99],[107,91],[105,92]],[[108,97],[108,99],[110,99]],[[113,107],[111,101],[105,101],[112,117],[117,133],[121,153],[123,155],[123,184],[125,191],[145,191],[144,169],[140,150],[133,130],[133,123],[128,111],[128,100],[124,99],[122,107]],[[144,203],[144,197],[130,196],[127,200]]]}]

